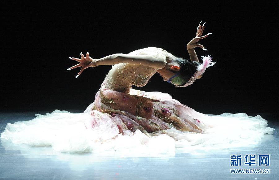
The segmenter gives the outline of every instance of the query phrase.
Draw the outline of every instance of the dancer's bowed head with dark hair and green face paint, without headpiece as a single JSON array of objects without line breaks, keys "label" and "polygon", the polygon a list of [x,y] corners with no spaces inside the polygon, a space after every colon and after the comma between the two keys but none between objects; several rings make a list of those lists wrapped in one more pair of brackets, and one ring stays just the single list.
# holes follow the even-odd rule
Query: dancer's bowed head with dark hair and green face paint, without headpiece
[{"label": "dancer's bowed head with dark hair and green face paint, without headpiece", "polygon": [[[169,59],[163,69],[157,72],[163,77],[164,81],[168,81],[174,85],[184,85],[190,77],[196,72],[197,66],[201,63],[197,61],[190,62],[186,59],[175,57]],[[199,76],[197,79],[201,78]]]}]

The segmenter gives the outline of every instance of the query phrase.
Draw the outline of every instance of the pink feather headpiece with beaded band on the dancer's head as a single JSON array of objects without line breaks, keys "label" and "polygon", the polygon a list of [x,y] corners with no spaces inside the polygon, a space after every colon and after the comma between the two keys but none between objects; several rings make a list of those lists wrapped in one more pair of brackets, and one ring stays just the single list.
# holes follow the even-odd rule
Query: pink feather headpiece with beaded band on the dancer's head
[{"label": "pink feather headpiece with beaded band on the dancer's head", "polygon": [[212,57],[210,55],[201,56],[201,57],[202,57],[203,63],[201,65],[197,66],[197,71],[193,74],[193,76],[183,86],[176,86],[176,87],[182,88],[182,87],[186,87],[186,86],[193,84],[193,82],[197,79],[197,77],[204,73],[206,68],[208,68],[209,66],[213,66],[216,63],[216,62],[211,62]]}]

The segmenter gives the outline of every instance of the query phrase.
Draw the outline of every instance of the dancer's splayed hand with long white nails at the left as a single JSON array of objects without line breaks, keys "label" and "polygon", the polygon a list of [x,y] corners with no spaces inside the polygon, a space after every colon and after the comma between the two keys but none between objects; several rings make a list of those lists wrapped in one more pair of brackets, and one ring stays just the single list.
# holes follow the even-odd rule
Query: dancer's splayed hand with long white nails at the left
[{"label": "dancer's splayed hand with long white nails at the left", "polygon": [[80,55],[81,55],[81,59],[69,57],[70,59],[79,62],[79,64],[77,64],[77,65],[75,65],[75,66],[72,66],[72,67],[70,67],[70,68],[67,69],[67,70],[71,70],[71,69],[74,69],[74,68],[76,68],[76,67],[82,66],[82,69],[79,71],[79,73],[78,73],[78,75],[76,76],[76,78],[77,78],[77,77],[82,73],[82,71],[85,70],[86,68],[88,68],[88,67],[95,67],[95,66],[96,66],[95,63],[94,63],[96,59],[93,59],[93,58],[89,57],[89,53],[88,53],[88,52],[86,53],[86,58],[84,58],[84,56],[83,56],[82,53],[80,53]]}]

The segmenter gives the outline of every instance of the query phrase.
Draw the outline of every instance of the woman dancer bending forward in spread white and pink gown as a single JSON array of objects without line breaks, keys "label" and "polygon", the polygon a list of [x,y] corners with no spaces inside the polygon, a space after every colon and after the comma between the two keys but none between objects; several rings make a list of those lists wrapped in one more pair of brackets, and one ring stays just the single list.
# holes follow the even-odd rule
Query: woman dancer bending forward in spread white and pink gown
[{"label": "woman dancer bending forward in spread white and pink gown", "polygon": [[[91,58],[88,52],[86,57],[81,53],[80,59],[69,57],[79,64],[67,70],[82,67],[76,78],[88,67],[113,65],[96,93],[95,101],[84,113],[55,110],[47,115],[36,114],[37,118],[31,121],[8,123],[1,139],[31,145],[52,145],[63,152],[100,150],[103,148],[99,145],[104,142],[110,144],[110,148],[115,148],[117,144],[131,139],[136,139],[140,146],[149,144],[149,148],[155,141],[155,144],[162,146],[174,144],[174,147],[200,145],[223,148],[258,143],[265,133],[272,134],[274,131],[259,115],[251,117],[245,113],[224,113],[208,116],[172,99],[170,94],[131,88],[132,85],[146,85],[156,72],[164,81],[181,88],[200,79],[206,68],[216,63],[211,61],[210,55],[203,56],[202,63],[199,62],[195,52],[195,47],[204,49],[198,41],[212,34],[201,36],[204,24],[198,25],[196,36],[187,44],[191,61],[156,47],[100,59]],[[45,134],[32,129],[34,126]],[[36,133],[43,138],[37,135],[34,141],[30,135]],[[127,136],[130,140],[125,140]]]}]

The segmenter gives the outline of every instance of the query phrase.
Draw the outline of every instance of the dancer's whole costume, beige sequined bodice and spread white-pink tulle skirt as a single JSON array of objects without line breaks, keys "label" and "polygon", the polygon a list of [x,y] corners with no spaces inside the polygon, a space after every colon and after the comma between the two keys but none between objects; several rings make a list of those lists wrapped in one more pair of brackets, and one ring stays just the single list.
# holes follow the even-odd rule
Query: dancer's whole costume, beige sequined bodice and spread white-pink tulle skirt
[{"label": "dancer's whole costume, beige sequined bodice and spread white-pink tulle skirt", "polygon": [[[166,51],[149,47],[129,54],[150,54],[166,61]],[[230,148],[257,144],[274,128],[259,115],[208,116],[162,92],[144,92],[157,71],[120,63],[104,79],[95,101],[84,113],[55,110],[25,122],[8,123],[1,140],[35,146],[51,145],[61,152],[175,153],[175,148]]]}]

